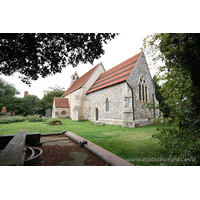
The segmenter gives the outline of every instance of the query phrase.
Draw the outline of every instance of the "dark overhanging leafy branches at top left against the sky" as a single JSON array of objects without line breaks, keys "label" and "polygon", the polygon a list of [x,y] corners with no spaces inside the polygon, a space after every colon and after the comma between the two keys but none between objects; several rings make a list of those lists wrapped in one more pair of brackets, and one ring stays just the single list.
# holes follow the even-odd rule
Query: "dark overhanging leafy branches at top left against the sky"
[{"label": "dark overhanging leafy branches at top left against the sky", "polygon": [[1,33],[0,72],[22,74],[21,80],[30,84],[39,76],[60,73],[66,65],[93,64],[104,54],[103,44],[115,38],[111,33]]}]

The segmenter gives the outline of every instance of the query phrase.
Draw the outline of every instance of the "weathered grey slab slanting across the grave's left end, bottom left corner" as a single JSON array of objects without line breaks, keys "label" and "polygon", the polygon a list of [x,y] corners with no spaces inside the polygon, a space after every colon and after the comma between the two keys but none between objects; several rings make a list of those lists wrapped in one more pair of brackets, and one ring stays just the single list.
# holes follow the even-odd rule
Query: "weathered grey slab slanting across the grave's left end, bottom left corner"
[{"label": "weathered grey slab slanting across the grave's left end, bottom left corner", "polygon": [[[0,166],[23,165],[27,132],[18,132],[0,153]],[[25,150],[26,151],[26,150]],[[24,157],[24,158],[23,158]]]}]

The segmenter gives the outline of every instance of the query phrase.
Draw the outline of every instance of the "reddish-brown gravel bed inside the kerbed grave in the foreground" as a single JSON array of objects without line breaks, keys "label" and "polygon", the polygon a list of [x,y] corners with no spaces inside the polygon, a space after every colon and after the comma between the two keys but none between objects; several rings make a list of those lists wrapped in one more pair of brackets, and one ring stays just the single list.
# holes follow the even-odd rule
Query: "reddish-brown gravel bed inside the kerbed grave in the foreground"
[{"label": "reddish-brown gravel bed inside the kerbed grave in the foreground", "polygon": [[66,135],[41,136],[41,160],[35,166],[108,166]]}]

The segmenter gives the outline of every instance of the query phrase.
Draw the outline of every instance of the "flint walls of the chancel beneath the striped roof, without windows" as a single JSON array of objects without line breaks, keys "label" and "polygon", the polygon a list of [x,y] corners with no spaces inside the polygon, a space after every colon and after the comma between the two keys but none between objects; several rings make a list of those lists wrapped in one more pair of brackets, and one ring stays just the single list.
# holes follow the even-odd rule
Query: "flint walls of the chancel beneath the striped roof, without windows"
[{"label": "flint walls of the chancel beneath the striped roof, without windows", "polygon": [[[146,59],[142,54],[127,80],[128,84],[133,88],[134,105],[132,105],[130,87],[126,82],[122,82],[87,95],[87,100],[90,103],[88,119],[96,121],[95,111],[98,108],[99,122],[123,127],[135,127],[135,124],[140,124],[141,126],[151,124],[148,118],[153,117],[153,110],[147,109],[144,106],[145,102],[139,100],[138,83],[140,76],[145,78],[148,86],[148,102],[153,103],[152,94],[155,93],[155,88]],[[109,100],[109,111],[105,111],[106,98]],[[156,104],[158,103],[156,99],[154,101]],[[133,120],[133,114],[135,121]],[[156,110],[156,115],[158,115],[158,110]]]}]

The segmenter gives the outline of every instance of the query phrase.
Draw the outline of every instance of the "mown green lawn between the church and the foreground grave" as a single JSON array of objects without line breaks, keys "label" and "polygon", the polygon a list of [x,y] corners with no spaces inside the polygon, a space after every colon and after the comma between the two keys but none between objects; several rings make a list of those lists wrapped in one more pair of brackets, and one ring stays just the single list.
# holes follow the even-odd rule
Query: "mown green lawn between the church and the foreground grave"
[{"label": "mown green lawn between the church and the foreground grave", "polygon": [[144,158],[167,158],[167,149],[152,138],[158,125],[148,125],[138,128],[123,128],[114,125],[93,125],[90,121],[75,122],[71,119],[61,119],[62,125],[43,125],[44,122],[18,122],[0,124],[0,135],[16,134],[19,131],[28,133],[55,133],[63,130],[73,132],[102,148],[127,159],[135,165],[160,165],[159,162],[133,161]]}]

